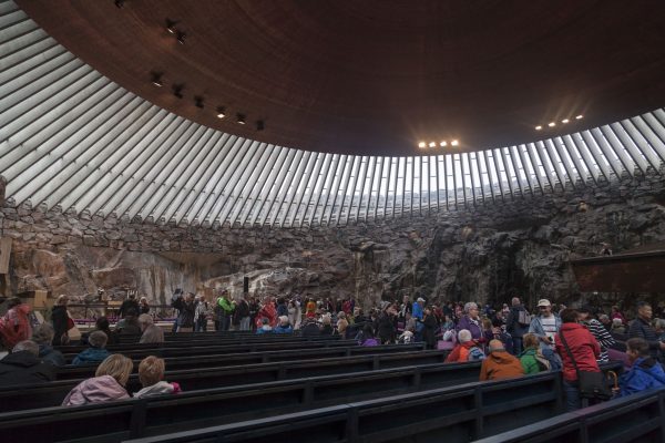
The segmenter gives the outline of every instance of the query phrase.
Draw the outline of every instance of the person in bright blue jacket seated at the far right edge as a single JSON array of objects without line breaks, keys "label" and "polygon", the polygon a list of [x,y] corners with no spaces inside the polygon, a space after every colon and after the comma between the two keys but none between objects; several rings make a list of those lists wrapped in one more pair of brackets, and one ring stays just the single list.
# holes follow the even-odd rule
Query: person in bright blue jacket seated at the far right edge
[{"label": "person in bright blue jacket seated at the far right edge", "polygon": [[633,365],[621,375],[620,396],[634,394],[652,388],[665,387],[665,372],[656,359],[651,357],[648,342],[642,338],[626,341],[626,354]]}]

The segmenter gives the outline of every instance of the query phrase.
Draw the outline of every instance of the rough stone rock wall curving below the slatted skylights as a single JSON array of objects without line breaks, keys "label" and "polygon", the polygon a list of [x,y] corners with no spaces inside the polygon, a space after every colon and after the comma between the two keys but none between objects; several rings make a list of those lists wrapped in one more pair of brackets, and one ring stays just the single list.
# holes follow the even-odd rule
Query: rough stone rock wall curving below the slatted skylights
[{"label": "rough stone rock wall curving below the slatted skylights", "polygon": [[415,293],[566,301],[579,297],[571,258],[596,255],[602,241],[616,253],[665,240],[665,184],[655,172],[339,228],[158,225],[11,203],[0,212],[0,235],[13,238],[6,295],[94,298],[104,288],[120,297],[131,287],[166,302],[176,287],[241,292],[248,276],[253,292],[352,295],[365,306]]}]

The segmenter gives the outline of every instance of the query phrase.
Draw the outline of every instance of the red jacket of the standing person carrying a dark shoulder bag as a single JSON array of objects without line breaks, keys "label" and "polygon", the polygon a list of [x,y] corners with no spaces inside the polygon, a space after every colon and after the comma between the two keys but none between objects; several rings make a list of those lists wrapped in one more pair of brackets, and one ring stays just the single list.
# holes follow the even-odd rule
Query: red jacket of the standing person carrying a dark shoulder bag
[{"label": "red jacket of the standing person carrying a dark shoulder bag", "polygon": [[589,330],[580,323],[563,323],[554,340],[556,343],[556,352],[563,361],[563,378],[566,381],[574,382],[577,380],[577,373],[573,361],[569,356],[561,336],[565,338],[571,353],[575,358],[580,371],[600,372],[596,359],[601,354],[601,346]]}]

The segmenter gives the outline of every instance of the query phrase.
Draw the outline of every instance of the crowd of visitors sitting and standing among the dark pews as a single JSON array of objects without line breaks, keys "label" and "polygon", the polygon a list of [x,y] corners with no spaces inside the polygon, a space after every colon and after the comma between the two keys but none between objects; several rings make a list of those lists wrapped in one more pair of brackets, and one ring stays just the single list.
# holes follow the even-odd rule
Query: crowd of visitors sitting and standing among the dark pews
[{"label": "crowd of visitors sitting and standing among the dark pews", "polygon": [[[30,308],[20,299],[8,302],[0,318],[2,344],[11,350],[0,360],[0,385],[39,383],[55,379],[65,364],[54,347],[71,343],[72,319],[69,298],[60,296],[51,321],[33,326]],[[177,310],[176,332],[205,331],[208,322],[218,331],[254,331],[257,334],[339,334],[361,346],[423,342],[426,348],[447,350],[447,363],[481,361],[479,380],[499,380],[543,371],[562,371],[567,410],[584,401],[628,395],[645,389],[665,387],[665,321],[653,319],[648,303],[637,305],[636,317],[627,321],[617,307],[607,313],[584,306],[554,307],[541,299],[530,310],[519,298],[499,309],[475,302],[428,302],[387,300],[367,312],[352,298],[331,300],[299,295],[233,298],[227,290],[208,301],[177,290],[172,300]],[[130,398],[125,390],[132,361],[111,353],[106,346],[126,336],[140,343],[161,343],[163,329],[154,324],[147,303],[131,295],[121,307],[122,319],[112,329],[105,317],[81,337],[88,348],[71,362],[98,365],[95,377],[76,385],[63,404]],[[625,343],[625,351],[617,342]],[[614,393],[587,395],[587,374],[601,374],[600,364],[622,360],[625,372]],[[177,383],[163,381],[164,361],[145,358],[139,365],[142,389],[134,396],[180,392]],[[584,377],[582,377],[584,375]]]}]

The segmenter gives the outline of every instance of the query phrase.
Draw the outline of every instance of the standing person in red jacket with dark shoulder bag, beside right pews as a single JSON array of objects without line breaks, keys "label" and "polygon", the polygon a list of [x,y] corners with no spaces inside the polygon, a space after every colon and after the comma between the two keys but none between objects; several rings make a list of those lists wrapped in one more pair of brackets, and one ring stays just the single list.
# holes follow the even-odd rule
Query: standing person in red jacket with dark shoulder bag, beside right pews
[{"label": "standing person in red jacket with dark shoulder bag, beside right pews", "polygon": [[555,338],[556,352],[563,361],[563,390],[566,396],[566,411],[581,408],[577,371],[571,356],[561,340],[565,339],[580,371],[601,372],[596,359],[601,354],[601,346],[583,324],[577,323],[577,311],[564,309],[561,311],[561,329]]}]

